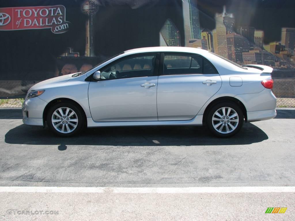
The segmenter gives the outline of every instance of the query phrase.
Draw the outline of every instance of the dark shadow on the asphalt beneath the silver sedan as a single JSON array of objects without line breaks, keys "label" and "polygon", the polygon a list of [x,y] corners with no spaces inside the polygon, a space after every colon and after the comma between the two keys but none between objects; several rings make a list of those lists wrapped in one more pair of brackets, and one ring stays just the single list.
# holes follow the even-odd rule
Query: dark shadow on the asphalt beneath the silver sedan
[{"label": "dark shadow on the asphalt beneath the silver sedan", "polygon": [[59,145],[65,150],[68,145],[103,146],[201,146],[243,145],[268,139],[260,128],[245,123],[241,131],[232,138],[212,136],[207,128],[196,126],[148,126],[87,128],[78,136],[61,138],[49,129],[20,125],[5,134],[9,144]]}]

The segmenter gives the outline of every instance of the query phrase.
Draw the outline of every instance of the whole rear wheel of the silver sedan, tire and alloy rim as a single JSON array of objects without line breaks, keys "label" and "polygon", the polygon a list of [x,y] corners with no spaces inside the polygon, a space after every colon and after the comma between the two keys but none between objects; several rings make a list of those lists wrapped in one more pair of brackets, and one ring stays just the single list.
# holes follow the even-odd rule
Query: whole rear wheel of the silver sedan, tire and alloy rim
[{"label": "whole rear wheel of the silver sedan, tire and alloy rim", "polygon": [[214,105],[207,115],[209,130],[218,137],[235,135],[243,126],[244,115],[235,103],[224,102]]}]

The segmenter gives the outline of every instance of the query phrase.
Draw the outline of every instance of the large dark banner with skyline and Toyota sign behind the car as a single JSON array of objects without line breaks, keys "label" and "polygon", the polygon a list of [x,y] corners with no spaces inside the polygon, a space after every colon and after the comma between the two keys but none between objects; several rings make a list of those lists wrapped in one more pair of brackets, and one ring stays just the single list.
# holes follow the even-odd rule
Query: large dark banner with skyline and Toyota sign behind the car
[{"label": "large dark banner with skyline and Toyota sign behind the car", "polygon": [[294,0],[0,0],[0,97],[139,47],[199,47],[295,73],[294,9]]}]

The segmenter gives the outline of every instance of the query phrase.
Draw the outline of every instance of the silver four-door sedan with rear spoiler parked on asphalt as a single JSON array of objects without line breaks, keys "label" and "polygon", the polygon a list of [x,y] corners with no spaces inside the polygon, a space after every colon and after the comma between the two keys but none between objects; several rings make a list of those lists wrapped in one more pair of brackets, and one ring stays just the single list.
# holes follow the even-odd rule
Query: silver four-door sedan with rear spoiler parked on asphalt
[{"label": "silver four-door sedan with rear spoiler parked on asphalt", "polygon": [[37,83],[23,122],[73,136],[85,127],[196,125],[219,137],[276,116],[272,68],[189,47],[128,50],[86,72]]}]

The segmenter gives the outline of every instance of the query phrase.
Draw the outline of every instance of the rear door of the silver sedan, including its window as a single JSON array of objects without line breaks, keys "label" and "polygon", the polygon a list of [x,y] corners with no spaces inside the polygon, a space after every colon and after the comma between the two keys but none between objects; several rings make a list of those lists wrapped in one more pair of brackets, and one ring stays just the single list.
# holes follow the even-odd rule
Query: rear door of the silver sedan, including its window
[{"label": "rear door of the silver sedan, including its window", "polygon": [[204,57],[162,53],[157,89],[159,121],[190,120],[221,87],[221,77]]}]

